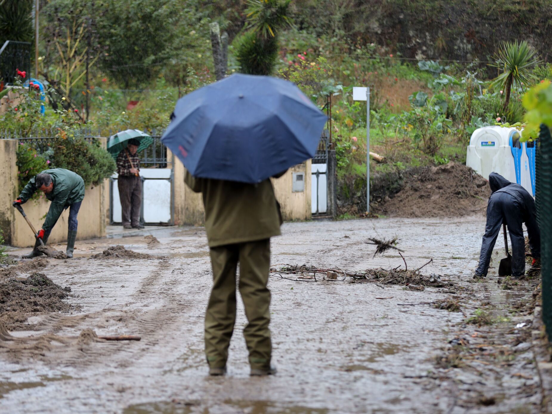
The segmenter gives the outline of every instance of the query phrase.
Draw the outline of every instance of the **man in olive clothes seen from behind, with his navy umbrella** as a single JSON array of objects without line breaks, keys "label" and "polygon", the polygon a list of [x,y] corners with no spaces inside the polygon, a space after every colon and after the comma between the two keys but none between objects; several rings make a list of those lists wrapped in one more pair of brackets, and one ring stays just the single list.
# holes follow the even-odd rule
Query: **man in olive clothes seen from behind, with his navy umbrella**
[{"label": "man in olive clothes seen from behind, with his navy umbrella", "polygon": [[232,75],[180,99],[163,144],[187,168],[185,183],[203,195],[213,289],[205,314],[210,375],[224,375],[236,321],[238,289],[247,316],[243,330],[251,375],[271,365],[270,237],[281,215],[270,177],[312,158],[324,115],[291,82]]}]

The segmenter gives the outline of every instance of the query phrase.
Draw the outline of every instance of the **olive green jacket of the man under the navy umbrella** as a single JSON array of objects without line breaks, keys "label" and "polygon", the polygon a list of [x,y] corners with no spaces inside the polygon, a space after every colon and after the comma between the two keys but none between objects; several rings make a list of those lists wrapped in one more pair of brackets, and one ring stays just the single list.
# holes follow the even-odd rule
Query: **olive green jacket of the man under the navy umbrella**
[{"label": "olive green jacket of the man under the navy umbrella", "polygon": [[269,179],[245,184],[195,178],[186,172],[184,182],[195,193],[203,195],[209,247],[264,240],[281,234],[282,214]]}]

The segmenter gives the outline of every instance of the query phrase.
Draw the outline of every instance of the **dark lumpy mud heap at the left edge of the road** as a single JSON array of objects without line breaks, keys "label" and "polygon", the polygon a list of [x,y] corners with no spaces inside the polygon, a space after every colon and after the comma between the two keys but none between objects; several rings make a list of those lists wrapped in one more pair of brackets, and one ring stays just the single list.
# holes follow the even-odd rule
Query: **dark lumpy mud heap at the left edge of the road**
[{"label": "dark lumpy mud heap at the left edge of the road", "polygon": [[68,311],[71,305],[63,299],[70,291],[43,273],[33,273],[24,280],[4,280],[0,282],[0,322],[13,328],[17,322],[24,322],[29,313]]}]

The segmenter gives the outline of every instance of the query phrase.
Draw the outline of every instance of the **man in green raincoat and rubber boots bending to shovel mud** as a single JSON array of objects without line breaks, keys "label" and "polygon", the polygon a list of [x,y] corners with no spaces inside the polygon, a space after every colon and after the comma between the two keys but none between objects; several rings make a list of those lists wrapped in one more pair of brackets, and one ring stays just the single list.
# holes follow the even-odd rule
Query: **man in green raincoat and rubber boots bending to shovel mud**
[{"label": "man in green raincoat and rubber boots bending to shovel mud", "polygon": [[67,257],[73,257],[73,249],[75,248],[75,240],[77,238],[77,214],[81,208],[82,200],[84,199],[84,181],[77,173],[63,168],[45,169],[40,174],[36,174],[31,178],[29,183],[19,194],[13,205],[24,204],[33,196],[36,190],[40,190],[46,195],[52,203],[46,220],[36,235],[36,242],[29,254],[25,254],[23,258],[33,258],[42,254],[38,247],[40,240],[46,244],[50,232],[54,228],[57,219],[64,209],[69,208],[68,232],[67,232]]}]

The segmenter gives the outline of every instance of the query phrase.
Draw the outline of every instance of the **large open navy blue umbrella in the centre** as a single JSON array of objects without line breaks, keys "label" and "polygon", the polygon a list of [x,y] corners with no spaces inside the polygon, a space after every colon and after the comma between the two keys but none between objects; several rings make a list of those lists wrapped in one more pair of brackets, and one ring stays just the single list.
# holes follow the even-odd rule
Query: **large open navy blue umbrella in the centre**
[{"label": "large open navy blue umbrella in the centre", "polygon": [[312,158],[326,121],[293,83],[240,74],[179,99],[161,141],[194,177],[258,183]]}]

